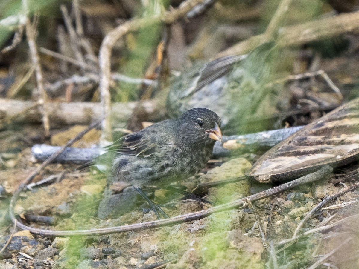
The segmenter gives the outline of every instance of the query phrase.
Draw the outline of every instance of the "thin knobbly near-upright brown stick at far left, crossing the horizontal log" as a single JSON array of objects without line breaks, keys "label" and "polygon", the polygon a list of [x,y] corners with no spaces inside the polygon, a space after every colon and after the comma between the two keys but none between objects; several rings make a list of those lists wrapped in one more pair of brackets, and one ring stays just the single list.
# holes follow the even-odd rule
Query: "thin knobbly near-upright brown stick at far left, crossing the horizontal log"
[{"label": "thin knobbly near-upright brown stick at far left, crossing the horizontal log", "polygon": [[50,123],[48,120],[48,111],[47,111],[47,94],[43,85],[43,76],[41,71],[40,59],[37,51],[37,46],[35,43],[35,39],[37,35],[35,23],[31,24],[30,19],[28,18],[25,24],[25,28],[26,28],[27,43],[29,45],[29,50],[31,55],[31,62],[35,67],[37,89],[39,96],[38,102],[42,105],[41,106],[42,123],[45,128],[45,136],[48,137],[50,136]]}]

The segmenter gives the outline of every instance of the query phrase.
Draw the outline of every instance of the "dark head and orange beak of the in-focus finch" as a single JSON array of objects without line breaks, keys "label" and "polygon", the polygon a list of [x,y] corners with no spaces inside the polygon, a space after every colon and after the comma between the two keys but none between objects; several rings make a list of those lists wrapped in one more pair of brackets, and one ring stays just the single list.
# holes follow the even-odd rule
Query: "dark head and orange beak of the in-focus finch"
[{"label": "dark head and orange beak of the in-focus finch", "polygon": [[183,122],[181,132],[185,138],[213,141],[211,144],[214,144],[214,140],[222,142],[221,119],[213,111],[194,108],[187,110],[180,118]]}]

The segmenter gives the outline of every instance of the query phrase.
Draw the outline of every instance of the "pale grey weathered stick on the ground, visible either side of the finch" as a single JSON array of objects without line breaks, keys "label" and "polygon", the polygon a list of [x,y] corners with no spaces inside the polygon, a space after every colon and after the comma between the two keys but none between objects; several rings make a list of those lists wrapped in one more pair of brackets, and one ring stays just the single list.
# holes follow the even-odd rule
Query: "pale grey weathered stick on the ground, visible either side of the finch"
[{"label": "pale grey weathered stick on the ground, visible either side of the finch", "polygon": [[[233,150],[240,149],[241,151],[249,151],[254,147],[257,149],[270,148],[271,146],[278,144],[281,140],[287,138],[289,135],[293,134],[300,128],[303,128],[303,126],[271,130],[247,135],[224,135],[223,144],[226,146],[226,148],[223,148],[219,142],[216,142],[213,148],[213,155],[217,157],[226,156],[232,153]],[[46,160],[51,154],[55,153],[59,149],[59,146],[36,144],[31,148],[31,152],[37,160],[42,161]],[[56,158],[55,161],[59,163],[87,163],[97,157],[100,152],[101,149],[99,148],[67,148]]]}]

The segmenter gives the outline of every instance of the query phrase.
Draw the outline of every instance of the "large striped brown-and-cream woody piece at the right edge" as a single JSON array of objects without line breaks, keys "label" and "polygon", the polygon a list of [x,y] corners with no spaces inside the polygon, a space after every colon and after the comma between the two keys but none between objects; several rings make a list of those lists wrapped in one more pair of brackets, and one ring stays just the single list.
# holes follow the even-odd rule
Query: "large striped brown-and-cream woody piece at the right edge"
[{"label": "large striped brown-and-cream woody piece at the right edge", "polygon": [[354,162],[359,156],[359,98],[313,121],[271,148],[246,174],[259,182],[285,181]]}]

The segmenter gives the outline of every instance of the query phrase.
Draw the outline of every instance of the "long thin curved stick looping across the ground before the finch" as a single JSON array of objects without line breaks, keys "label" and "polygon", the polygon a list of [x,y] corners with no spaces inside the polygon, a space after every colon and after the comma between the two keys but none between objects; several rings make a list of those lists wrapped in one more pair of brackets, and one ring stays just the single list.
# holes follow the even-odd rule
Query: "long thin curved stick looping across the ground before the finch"
[{"label": "long thin curved stick looping across the ground before the finch", "polygon": [[[56,158],[56,156],[52,155],[52,159],[54,159],[54,158]],[[48,163],[47,160],[44,163]],[[43,166],[43,164],[41,166]],[[37,168],[36,170],[40,170],[40,169]],[[187,213],[187,214],[184,214],[184,215],[171,217],[171,218],[166,218],[166,219],[162,219],[162,220],[147,221],[147,222],[142,222],[142,223],[117,226],[117,227],[109,227],[109,228],[101,228],[101,229],[90,229],[90,230],[77,230],[77,231],[43,230],[43,229],[37,229],[37,228],[33,228],[33,227],[30,227],[30,226],[24,225],[21,222],[18,222],[17,226],[20,229],[29,230],[33,234],[39,234],[39,235],[42,235],[42,236],[103,235],[103,234],[113,234],[113,233],[116,233],[116,232],[139,231],[139,230],[152,229],[152,228],[157,228],[157,227],[162,227],[162,226],[173,226],[173,225],[181,224],[181,223],[184,223],[184,222],[187,222],[187,221],[199,220],[201,218],[208,217],[208,216],[212,215],[213,213],[238,208],[238,207],[243,206],[243,204],[246,203],[246,202],[253,202],[253,201],[257,201],[257,200],[260,200],[260,199],[263,199],[263,198],[266,198],[266,197],[270,197],[272,195],[281,193],[281,192],[286,191],[288,189],[292,189],[294,187],[297,187],[300,184],[307,184],[307,183],[311,183],[311,182],[314,182],[314,181],[318,181],[320,179],[325,178],[332,171],[333,171],[332,167],[330,167],[328,165],[324,165],[317,172],[308,174],[307,176],[298,178],[298,179],[296,179],[294,181],[281,184],[281,185],[279,185],[277,187],[267,189],[266,191],[262,191],[262,192],[253,194],[251,196],[244,197],[242,199],[235,200],[233,202],[225,203],[223,205],[211,207],[211,208],[208,208],[206,210]],[[11,198],[9,212],[10,212],[11,220],[13,220],[13,221],[15,220],[15,215],[14,215],[14,211],[13,211],[15,203],[16,203],[22,189],[25,188],[26,184],[28,184],[29,181],[31,181],[31,179],[33,178],[33,176],[32,177],[31,176],[29,176],[19,186],[19,188],[14,192],[13,197]]]}]

